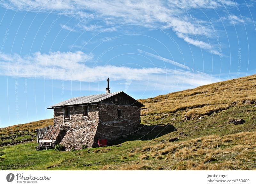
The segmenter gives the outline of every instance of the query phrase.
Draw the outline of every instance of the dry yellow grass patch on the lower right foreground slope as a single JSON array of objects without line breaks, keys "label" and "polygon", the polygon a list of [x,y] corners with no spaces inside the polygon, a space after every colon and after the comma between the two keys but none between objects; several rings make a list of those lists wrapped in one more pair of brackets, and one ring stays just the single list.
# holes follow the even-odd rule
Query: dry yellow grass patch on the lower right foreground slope
[{"label": "dry yellow grass patch on the lower right foreground slope", "polygon": [[156,144],[145,146],[136,153],[140,161],[108,168],[142,170],[141,167],[146,166],[154,170],[252,170],[256,166],[256,132]]}]

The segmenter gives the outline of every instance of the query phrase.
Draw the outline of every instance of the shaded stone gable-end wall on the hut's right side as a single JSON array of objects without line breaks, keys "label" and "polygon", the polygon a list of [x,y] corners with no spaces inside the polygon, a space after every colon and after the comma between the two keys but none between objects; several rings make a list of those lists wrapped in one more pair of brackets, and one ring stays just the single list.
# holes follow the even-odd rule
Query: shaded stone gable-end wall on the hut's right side
[{"label": "shaded stone gable-end wall on the hut's right side", "polygon": [[[140,125],[140,108],[137,106],[114,105],[101,102],[100,124],[96,139],[108,139],[108,144],[117,138],[126,138],[137,130]],[[121,110],[121,116],[118,111]]]}]

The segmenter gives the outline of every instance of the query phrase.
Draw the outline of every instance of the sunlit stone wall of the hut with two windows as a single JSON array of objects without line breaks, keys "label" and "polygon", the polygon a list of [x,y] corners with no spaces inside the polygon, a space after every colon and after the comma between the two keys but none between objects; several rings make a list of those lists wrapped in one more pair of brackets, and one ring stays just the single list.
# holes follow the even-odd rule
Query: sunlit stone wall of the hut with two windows
[{"label": "sunlit stone wall of the hut with two windows", "polygon": [[89,106],[88,116],[84,117],[82,106],[70,107],[69,119],[64,119],[62,108],[55,108],[54,126],[49,129],[44,140],[56,140],[60,131],[66,130],[67,133],[60,142],[65,145],[66,150],[71,150],[72,147],[79,150],[85,144],[88,148],[96,146],[94,137],[99,123],[98,110],[95,106]]}]

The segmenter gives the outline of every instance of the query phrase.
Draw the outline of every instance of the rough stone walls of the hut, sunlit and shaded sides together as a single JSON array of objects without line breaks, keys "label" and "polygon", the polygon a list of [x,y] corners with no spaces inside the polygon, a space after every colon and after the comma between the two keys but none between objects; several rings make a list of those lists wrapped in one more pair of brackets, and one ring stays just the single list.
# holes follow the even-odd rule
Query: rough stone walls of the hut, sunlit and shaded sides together
[{"label": "rough stone walls of the hut, sunlit and shaded sides together", "polygon": [[[118,116],[118,111],[121,115]],[[70,107],[69,119],[64,119],[63,109],[54,109],[54,126],[49,129],[44,140],[55,140],[65,145],[66,150],[74,147],[82,149],[98,147],[98,139],[108,139],[108,144],[117,138],[125,138],[140,125],[140,108],[129,105],[114,105],[100,102],[89,106],[88,116],[84,117],[83,107]]]}]

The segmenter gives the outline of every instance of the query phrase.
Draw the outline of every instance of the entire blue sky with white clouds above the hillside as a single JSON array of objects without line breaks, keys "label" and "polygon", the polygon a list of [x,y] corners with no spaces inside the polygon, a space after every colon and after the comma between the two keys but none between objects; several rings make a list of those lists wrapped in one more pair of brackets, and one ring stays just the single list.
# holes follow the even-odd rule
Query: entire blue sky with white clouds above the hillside
[{"label": "entire blue sky with white clouds above the hillside", "polygon": [[0,127],[63,100],[256,74],[255,1],[0,1]]}]

